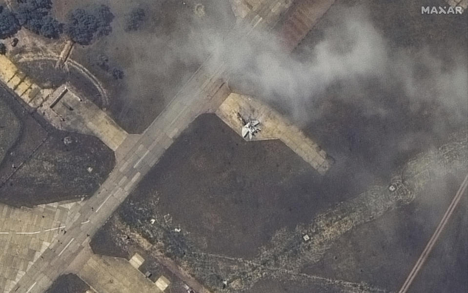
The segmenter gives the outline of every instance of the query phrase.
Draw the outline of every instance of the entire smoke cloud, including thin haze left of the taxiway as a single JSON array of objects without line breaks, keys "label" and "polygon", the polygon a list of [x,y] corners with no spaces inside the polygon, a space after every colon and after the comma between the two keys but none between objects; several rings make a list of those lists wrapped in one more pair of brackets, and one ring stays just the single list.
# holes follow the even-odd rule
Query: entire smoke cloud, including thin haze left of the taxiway
[{"label": "entire smoke cloud, including thin haze left of the taxiway", "polygon": [[[434,125],[436,131],[444,131],[444,123],[459,123],[467,116],[465,48],[453,46],[454,51],[448,53],[450,64],[427,48],[394,48],[376,29],[365,6],[334,5],[334,17],[327,20],[331,25],[324,29],[322,41],[303,45],[300,54],[291,55],[283,51],[277,32],[256,30],[245,38],[243,30],[229,38],[226,32],[235,21],[227,1],[206,2],[203,20],[177,14],[165,19],[159,15],[160,5],[153,1],[141,5],[152,18],[141,31],[132,33],[123,31],[130,7],[116,12],[115,33],[130,44],[110,53],[126,62],[122,64],[127,84],[123,108],[145,103],[147,97],[154,97],[154,101],[172,98],[183,80],[213,54],[227,64],[229,72],[224,78],[234,91],[269,101],[302,125],[326,114],[326,91],[332,87],[335,92],[341,90],[337,96],[344,103],[359,105],[364,115],[394,115],[396,110],[382,103],[384,94],[374,97],[366,92],[369,84],[398,96],[415,114],[429,108],[430,115],[444,121]],[[173,28],[166,29],[171,26],[168,23],[174,23]],[[190,30],[188,35],[186,30]],[[121,41],[112,39],[108,46],[113,50]],[[461,60],[454,61],[455,55]],[[153,105],[159,110],[162,106]],[[138,116],[122,111],[122,116],[129,115]]]}]

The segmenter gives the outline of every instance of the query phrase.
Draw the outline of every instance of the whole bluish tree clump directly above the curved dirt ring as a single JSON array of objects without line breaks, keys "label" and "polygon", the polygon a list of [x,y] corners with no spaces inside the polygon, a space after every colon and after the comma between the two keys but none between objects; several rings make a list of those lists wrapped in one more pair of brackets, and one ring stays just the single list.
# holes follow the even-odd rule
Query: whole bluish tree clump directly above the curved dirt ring
[{"label": "whole bluish tree clump directly above the curved dirt ring", "polygon": [[65,33],[73,41],[87,45],[94,36],[102,37],[110,34],[112,32],[110,23],[113,19],[114,15],[105,5],[99,6],[93,12],[75,9],[67,16]]}]

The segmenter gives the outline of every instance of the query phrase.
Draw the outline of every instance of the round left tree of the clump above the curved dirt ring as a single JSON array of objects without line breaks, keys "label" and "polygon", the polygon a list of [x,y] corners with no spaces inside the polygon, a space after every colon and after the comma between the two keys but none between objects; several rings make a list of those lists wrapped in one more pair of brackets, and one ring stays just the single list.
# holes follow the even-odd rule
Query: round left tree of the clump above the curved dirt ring
[{"label": "round left tree of the clump above the curved dirt ring", "polygon": [[96,17],[83,9],[75,9],[67,16],[65,33],[80,45],[87,45],[98,29]]}]

